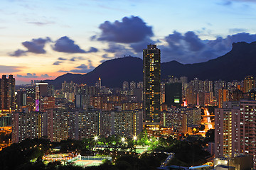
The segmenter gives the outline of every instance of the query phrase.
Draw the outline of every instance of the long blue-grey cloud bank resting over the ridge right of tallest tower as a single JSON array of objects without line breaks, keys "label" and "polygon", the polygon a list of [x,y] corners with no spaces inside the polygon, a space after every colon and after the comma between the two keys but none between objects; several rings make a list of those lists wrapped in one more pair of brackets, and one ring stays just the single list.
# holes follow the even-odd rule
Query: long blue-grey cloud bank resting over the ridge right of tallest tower
[{"label": "long blue-grey cloud bank resting over the ridge right of tallest tower", "polygon": [[215,40],[201,40],[201,38],[192,31],[184,35],[174,31],[165,37],[168,45],[159,45],[161,50],[162,62],[176,60],[181,63],[206,62],[232,49],[233,42],[253,42],[256,41],[256,35],[249,33],[238,33],[228,35],[226,38],[218,37]]}]

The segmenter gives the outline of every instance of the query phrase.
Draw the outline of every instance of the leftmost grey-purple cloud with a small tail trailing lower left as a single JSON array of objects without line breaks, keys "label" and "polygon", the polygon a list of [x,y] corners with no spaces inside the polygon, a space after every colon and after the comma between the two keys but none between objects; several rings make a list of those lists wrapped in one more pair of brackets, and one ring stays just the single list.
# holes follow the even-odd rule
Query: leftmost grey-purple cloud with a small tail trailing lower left
[{"label": "leftmost grey-purple cloud with a small tail trailing lower left", "polygon": [[31,41],[25,41],[22,42],[22,45],[27,48],[27,50],[16,50],[15,52],[10,53],[10,56],[13,57],[21,57],[23,55],[26,55],[27,52],[32,52],[35,54],[45,54],[46,50],[44,50],[44,47],[47,42],[51,42],[50,38],[37,38],[32,39]]}]

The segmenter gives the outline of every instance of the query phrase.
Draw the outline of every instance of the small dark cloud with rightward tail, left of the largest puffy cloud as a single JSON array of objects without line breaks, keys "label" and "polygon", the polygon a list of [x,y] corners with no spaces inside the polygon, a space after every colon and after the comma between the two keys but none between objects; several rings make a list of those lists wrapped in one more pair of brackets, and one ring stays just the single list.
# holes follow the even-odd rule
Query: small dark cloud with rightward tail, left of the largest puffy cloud
[{"label": "small dark cloud with rightward tail, left of the largest puffy cloud", "polygon": [[59,38],[55,45],[53,45],[53,50],[57,52],[67,52],[67,53],[90,53],[97,52],[97,48],[90,47],[90,50],[82,50],[78,45],[75,44],[75,41],[71,40],[67,36]]}]

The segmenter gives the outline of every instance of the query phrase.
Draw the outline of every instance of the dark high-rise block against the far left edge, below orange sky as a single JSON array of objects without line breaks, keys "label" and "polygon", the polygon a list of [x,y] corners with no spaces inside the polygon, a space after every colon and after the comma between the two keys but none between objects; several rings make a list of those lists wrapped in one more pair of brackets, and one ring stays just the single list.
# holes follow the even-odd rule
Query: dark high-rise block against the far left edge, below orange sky
[{"label": "dark high-rise block against the far left edge, below orange sky", "polygon": [[13,75],[9,75],[6,79],[6,75],[2,75],[1,82],[1,97],[0,97],[0,109],[14,109],[15,101],[15,79]]}]

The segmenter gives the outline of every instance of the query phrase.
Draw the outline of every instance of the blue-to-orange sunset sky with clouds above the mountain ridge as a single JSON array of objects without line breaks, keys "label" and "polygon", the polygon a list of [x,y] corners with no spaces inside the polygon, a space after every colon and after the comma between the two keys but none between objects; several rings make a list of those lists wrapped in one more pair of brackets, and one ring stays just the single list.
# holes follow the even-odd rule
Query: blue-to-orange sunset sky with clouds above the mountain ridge
[{"label": "blue-to-orange sunset sky with clouds above the mountain ridge", "polygon": [[86,74],[106,60],[206,62],[256,41],[255,0],[1,0],[0,73],[16,84]]}]

